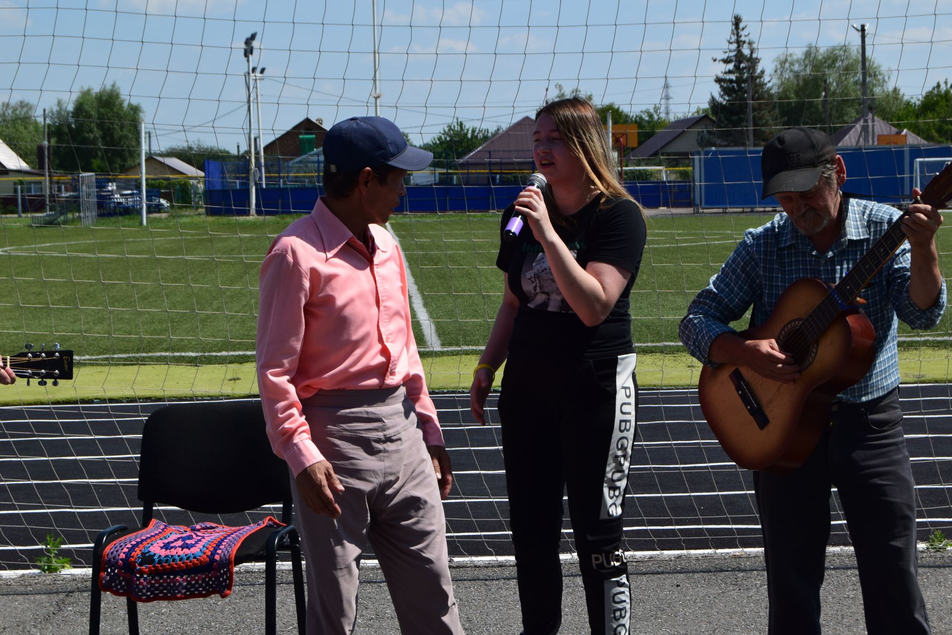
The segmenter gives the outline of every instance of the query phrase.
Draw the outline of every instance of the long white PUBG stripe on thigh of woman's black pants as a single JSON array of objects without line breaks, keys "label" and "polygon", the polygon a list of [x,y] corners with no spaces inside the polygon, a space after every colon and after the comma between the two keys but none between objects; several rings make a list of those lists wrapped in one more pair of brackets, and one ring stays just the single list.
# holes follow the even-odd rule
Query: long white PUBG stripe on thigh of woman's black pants
[{"label": "long white PUBG stripe on thigh of woman's black pants", "polygon": [[615,417],[611,430],[611,446],[605,462],[605,482],[602,486],[600,518],[622,515],[625,487],[628,485],[628,466],[631,464],[631,442],[635,434],[635,366],[638,355],[629,353],[618,357],[615,369]]}]

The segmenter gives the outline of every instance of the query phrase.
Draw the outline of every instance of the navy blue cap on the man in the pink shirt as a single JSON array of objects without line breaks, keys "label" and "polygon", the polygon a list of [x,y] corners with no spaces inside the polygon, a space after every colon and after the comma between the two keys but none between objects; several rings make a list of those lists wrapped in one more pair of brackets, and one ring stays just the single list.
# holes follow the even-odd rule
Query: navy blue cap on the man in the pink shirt
[{"label": "navy blue cap on the man in the pink shirt", "polygon": [[323,148],[328,168],[344,173],[385,164],[412,171],[433,160],[432,152],[408,145],[397,125],[383,117],[350,117],[334,124]]}]

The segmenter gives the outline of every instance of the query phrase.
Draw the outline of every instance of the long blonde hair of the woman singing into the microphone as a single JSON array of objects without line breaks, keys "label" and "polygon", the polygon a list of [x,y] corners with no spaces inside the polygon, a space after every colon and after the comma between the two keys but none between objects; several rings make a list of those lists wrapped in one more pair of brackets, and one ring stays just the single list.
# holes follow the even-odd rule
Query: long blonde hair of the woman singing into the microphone
[{"label": "long blonde hair of the woman singing into the microphone", "polygon": [[[576,95],[545,104],[536,112],[536,121],[543,113],[552,118],[552,123],[559,130],[565,146],[582,162],[585,175],[591,180],[592,185],[606,194],[600,207],[605,206],[607,198],[626,198],[638,205],[644,216],[645,210],[625,189],[625,185],[618,178],[618,172],[612,165],[612,150],[608,148],[602,119],[592,103],[585,97]],[[549,194],[545,197],[545,206],[554,212],[555,220],[564,223],[565,216],[552,200],[550,187],[546,186],[545,190]]]}]

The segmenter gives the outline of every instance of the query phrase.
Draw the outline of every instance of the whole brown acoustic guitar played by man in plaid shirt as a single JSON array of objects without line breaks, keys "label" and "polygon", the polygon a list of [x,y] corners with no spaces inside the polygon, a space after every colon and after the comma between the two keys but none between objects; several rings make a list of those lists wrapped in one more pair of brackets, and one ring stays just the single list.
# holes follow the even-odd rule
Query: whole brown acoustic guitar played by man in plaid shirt
[{"label": "whole brown acoustic guitar played by man in plaid shirt", "polygon": [[[949,198],[952,164],[933,177],[916,202],[942,208]],[[854,303],[902,245],[902,219],[908,213],[902,213],[836,287],[801,278],[783,291],[764,324],[738,333],[748,340],[776,340],[800,366],[794,384],[729,364],[701,371],[698,392],[704,417],[738,466],[780,471],[803,464],[829,426],[834,397],[868,372],[876,358],[876,334]]]}]

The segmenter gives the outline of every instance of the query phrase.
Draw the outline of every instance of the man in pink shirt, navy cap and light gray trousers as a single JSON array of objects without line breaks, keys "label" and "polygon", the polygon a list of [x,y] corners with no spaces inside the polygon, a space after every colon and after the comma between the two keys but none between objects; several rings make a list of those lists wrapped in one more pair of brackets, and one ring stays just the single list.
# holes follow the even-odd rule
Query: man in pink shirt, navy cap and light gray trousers
[{"label": "man in pink shirt, navy cap and light gray trousers", "polygon": [[381,117],[324,140],[323,196],[261,268],[257,366],[268,437],[294,475],[307,633],[345,635],[373,546],[404,633],[462,634],[441,498],[452,468],[413,339],[407,271],[381,226],[433,155]]}]

